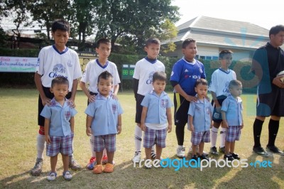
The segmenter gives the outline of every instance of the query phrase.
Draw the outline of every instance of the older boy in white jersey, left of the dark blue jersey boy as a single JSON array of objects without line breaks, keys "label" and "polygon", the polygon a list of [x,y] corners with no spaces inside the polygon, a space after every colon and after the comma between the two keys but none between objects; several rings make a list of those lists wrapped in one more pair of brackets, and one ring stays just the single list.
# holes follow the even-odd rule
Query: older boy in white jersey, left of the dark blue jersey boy
[{"label": "older boy in white jersey, left of the dark blue jersey boy", "polygon": [[[133,163],[138,163],[141,159],[141,144],[142,144],[142,131],[141,131],[141,114],[143,107],[141,102],[145,95],[153,90],[152,77],[154,72],[165,72],[165,65],[157,60],[160,52],[160,41],[158,38],[149,38],[146,41],[144,50],[147,53],[147,57],[139,60],[133,73],[133,92],[136,99],[136,117],[135,117],[135,153],[132,159]],[[152,148],[151,158],[155,158],[155,146]]]}]

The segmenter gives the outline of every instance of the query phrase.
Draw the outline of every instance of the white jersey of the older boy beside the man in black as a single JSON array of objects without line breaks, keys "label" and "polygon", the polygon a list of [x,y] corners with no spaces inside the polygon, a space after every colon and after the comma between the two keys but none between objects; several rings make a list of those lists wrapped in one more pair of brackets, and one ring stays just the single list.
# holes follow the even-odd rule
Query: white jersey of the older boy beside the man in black
[{"label": "white jersey of the older boy beside the man in black", "polygon": [[216,96],[229,95],[229,82],[236,80],[236,72],[228,70],[228,72],[221,70],[220,68],[215,70],[211,77],[209,85],[209,91],[215,92]]}]

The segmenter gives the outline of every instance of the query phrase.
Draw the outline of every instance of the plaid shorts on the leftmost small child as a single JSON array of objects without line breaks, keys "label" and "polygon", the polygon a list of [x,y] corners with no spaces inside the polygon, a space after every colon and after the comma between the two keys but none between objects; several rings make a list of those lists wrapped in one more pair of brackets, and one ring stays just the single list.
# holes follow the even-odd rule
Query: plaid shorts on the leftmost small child
[{"label": "plaid shorts on the leftmost small child", "polygon": [[70,156],[73,153],[72,141],[74,134],[67,136],[50,136],[50,144],[46,144],[46,156],[56,156],[61,153]]}]

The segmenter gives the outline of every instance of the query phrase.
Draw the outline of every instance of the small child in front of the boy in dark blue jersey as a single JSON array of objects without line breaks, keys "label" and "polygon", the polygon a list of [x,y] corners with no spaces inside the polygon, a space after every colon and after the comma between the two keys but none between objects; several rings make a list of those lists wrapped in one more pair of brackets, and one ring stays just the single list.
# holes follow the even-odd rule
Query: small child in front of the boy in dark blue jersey
[{"label": "small child in front of the boy in dark blue jersey", "polygon": [[[198,158],[209,160],[203,153],[204,143],[210,142],[210,128],[212,128],[213,107],[207,97],[208,82],[205,79],[198,79],[195,83],[197,101],[190,102],[188,109],[187,129],[192,131],[192,159]],[[197,146],[199,147],[199,157],[197,157]]]}]

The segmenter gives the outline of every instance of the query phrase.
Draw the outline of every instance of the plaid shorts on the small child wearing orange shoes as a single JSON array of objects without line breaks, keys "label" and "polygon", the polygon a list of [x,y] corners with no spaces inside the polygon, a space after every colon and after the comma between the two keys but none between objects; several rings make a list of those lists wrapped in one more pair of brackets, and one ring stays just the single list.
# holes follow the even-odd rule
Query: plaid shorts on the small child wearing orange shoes
[{"label": "plaid shorts on the small child wearing orange shoes", "polygon": [[116,151],[116,134],[94,136],[94,151],[101,152],[104,148],[108,152]]}]

